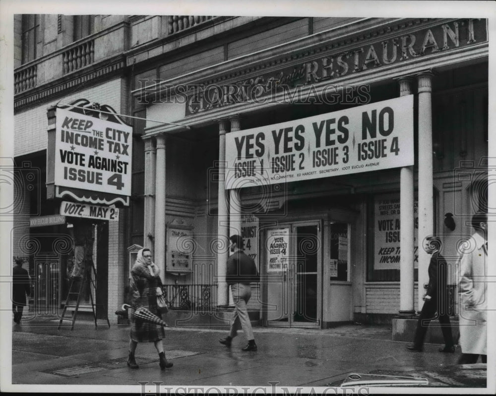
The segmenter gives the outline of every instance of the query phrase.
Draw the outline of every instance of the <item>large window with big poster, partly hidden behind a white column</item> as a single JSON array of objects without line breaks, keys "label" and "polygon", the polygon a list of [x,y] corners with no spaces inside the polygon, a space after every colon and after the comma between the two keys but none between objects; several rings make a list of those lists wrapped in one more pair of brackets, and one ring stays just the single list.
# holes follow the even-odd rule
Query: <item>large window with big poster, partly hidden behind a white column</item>
[{"label": "large window with big poster, partly hidden behind a white column", "polygon": [[[418,200],[414,198],[414,277],[418,280]],[[400,280],[400,194],[371,196],[368,202],[368,282]]]}]

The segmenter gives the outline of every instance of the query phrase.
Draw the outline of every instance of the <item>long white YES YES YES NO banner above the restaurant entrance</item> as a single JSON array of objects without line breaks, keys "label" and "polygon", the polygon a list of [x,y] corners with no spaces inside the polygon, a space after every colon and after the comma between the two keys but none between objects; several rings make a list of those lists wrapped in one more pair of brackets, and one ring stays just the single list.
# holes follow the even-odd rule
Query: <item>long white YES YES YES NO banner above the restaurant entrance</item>
[{"label": "long white YES YES YES NO banner above the restaurant entrance", "polygon": [[413,165],[413,95],[226,134],[226,188]]}]

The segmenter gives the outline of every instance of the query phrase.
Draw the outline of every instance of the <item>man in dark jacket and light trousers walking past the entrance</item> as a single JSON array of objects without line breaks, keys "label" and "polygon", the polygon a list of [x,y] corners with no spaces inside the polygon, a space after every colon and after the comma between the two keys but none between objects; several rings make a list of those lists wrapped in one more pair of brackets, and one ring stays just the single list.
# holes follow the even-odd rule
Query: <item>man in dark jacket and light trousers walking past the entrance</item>
[{"label": "man in dark jacket and light trousers walking past the entrance", "polygon": [[251,330],[251,323],[248,317],[247,304],[251,297],[250,282],[258,282],[255,262],[248,257],[243,250],[243,238],[241,235],[229,237],[229,249],[232,255],[227,260],[226,283],[231,286],[235,304],[234,320],[231,324],[229,336],[220,339],[220,343],[228,347],[236,337],[238,330],[243,328],[248,339],[248,345],[243,348],[246,352],[256,351],[255,339]]}]

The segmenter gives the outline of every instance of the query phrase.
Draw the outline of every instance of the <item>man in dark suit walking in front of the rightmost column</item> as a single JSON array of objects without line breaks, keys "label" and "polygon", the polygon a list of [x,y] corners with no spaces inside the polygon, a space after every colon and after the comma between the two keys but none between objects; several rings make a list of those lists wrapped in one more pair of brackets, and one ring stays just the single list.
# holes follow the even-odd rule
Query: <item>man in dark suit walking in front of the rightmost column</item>
[{"label": "man in dark suit walking in front of the rightmost column", "polygon": [[444,338],[444,347],[439,348],[439,352],[453,353],[455,346],[451,334],[451,324],[449,322],[448,305],[449,305],[449,287],[447,283],[447,263],[441,256],[439,250],[441,241],[435,236],[426,238],[424,249],[431,254],[429,263],[429,284],[427,284],[426,295],[424,296],[424,305],[420,313],[413,345],[407,346],[410,351],[421,352],[424,345],[424,338],[431,320],[436,319],[435,313],[441,325],[442,337]]}]

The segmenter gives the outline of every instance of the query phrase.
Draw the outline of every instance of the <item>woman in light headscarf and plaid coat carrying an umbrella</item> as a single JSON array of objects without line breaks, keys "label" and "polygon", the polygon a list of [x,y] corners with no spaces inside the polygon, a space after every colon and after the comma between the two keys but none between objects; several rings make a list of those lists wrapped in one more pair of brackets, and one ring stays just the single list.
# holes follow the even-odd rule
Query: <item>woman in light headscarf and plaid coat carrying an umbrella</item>
[{"label": "woman in light headscarf and plaid coat carrying an umbrella", "polygon": [[[162,281],[159,274],[160,270],[152,261],[150,249],[143,248],[139,250],[136,261],[131,268],[131,277],[129,279],[131,305],[133,307],[144,307],[160,316],[157,308],[157,296],[162,295]],[[162,344],[164,328],[155,323],[138,320],[134,316],[134,309],[130,308],[129,311],[131,335],[127,365],[133,369],[138,368],[134,358],[134,352],[138,342],[153,342],[159,354],[160,368],[164,370],[165,368],[172,367],[173,363],[167,361]]]}]

